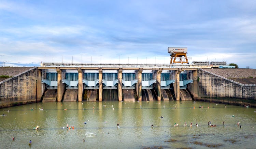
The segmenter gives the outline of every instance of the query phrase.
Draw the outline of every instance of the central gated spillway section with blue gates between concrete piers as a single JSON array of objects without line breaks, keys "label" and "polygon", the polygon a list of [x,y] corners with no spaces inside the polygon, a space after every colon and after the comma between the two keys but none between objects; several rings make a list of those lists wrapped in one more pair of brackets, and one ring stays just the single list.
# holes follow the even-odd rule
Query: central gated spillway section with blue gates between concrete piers
[{"label": "central gated spillway section with blue gates between concrete piers", "polygon": [[43,101],[53,102],[161,101],[180,100],[181,96],[191,99],[187,84],[197,79],[193,76],[197,76],[198,68],[212,67],[215,66],[42,63],[37,92],[43,93]]}]

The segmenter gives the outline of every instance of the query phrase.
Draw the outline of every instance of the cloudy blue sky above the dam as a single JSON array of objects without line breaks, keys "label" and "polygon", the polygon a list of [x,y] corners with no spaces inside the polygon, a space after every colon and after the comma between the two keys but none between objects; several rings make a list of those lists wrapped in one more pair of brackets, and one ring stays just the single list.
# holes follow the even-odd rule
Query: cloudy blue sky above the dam
[{"label": "cloudy blue sky above the dam", "polygon": [[0,1],[0,66],[168,64],[168,47],[256,69],[256,1]]}]

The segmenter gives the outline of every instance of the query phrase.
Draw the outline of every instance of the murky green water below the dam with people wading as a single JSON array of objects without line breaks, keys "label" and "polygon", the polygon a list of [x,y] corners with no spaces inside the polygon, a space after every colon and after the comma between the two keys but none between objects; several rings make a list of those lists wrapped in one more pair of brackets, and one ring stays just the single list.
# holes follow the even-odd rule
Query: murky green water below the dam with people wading
[{"label": "murky green water below the dam with people wading", "polygon": [[254,111],[201,101],[41,102],[0,109],[0,148],[255,148]]}]

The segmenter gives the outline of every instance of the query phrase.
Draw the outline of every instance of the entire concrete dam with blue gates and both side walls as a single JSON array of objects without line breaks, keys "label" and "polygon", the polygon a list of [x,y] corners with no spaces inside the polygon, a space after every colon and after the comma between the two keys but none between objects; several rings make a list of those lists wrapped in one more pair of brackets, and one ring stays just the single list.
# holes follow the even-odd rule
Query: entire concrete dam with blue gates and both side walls
[{"label": "entire concrete dam with blue gates and both side walls", "polygon": [[[255,69],[213,68],[185,64],[84,63],[9,67],[9,71],[20,71],[0,82],[0,105],[3,108],[41,101],[169,100],[256,105]],[[6,67],[0,67],[0,75],[8,72]]]}]

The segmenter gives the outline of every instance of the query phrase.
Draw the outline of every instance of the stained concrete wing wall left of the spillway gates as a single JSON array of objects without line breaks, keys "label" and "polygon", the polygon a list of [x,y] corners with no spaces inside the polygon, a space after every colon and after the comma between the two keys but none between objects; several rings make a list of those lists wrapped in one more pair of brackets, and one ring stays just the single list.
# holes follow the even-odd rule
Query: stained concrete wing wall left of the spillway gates
[{"label": "stained concrete wing wall left of the spillway gates", "polygon": [[27,71],[2,81],[0,83],[0,108],[36,102],[37,79],[38,69],[28,68]]}]

